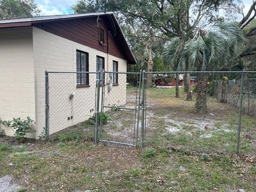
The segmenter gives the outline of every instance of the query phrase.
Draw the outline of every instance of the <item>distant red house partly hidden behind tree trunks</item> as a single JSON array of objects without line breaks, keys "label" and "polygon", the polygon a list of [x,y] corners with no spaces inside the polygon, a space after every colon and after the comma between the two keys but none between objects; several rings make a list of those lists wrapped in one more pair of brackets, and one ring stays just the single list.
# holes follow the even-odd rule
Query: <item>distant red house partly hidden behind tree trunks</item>
[{"label": "distant red house partly hidden behind tree trunks", "polygon": [[[196,76],[190,76],[190,86],[196,85]],[[168,74],[156,74],[154,76],[154,83],[156,86],[175,86],[176,78]],[[183,86],[183,74],[179,75],[179,86]]]}]

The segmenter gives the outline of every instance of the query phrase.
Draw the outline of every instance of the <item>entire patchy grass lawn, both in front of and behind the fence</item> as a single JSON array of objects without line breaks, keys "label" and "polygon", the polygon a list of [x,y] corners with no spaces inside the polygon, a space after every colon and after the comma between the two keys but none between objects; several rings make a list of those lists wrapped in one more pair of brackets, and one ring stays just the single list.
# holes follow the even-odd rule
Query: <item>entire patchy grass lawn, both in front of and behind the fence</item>
[{"label": "entire patchy grass lawn, both in front of and behind the fence", "polygon": [[[17,143],[0,136],[0,178],[9,175],[20,191],[254,191],[255,119],[243,116],[236,156],[237,109],[209,98],[209,114],[199,116],[193,113],[195,101],[184,101],[183,93],[176,99],[174,93],[148,90],[143,150],[94,145],[93,126],[87,124],[49,142]],[[105,137],[133,139],[131,111],[109,116],[113,122],[104,125]]]}]

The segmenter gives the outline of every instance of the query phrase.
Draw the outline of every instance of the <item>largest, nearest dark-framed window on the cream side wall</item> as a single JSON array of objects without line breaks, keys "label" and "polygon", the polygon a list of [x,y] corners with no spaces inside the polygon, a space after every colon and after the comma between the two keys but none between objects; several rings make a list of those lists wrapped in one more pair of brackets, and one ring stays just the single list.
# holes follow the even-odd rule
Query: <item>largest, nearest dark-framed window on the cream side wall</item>
[{"label": "largest, nearest dark-framed window on the cream side wall", "polygon": [[[86,52],[76,50],[76,71],[88,72],[89,71],[89,55]],[[77,85],[89,85],[89,74],[77,73]]]}]

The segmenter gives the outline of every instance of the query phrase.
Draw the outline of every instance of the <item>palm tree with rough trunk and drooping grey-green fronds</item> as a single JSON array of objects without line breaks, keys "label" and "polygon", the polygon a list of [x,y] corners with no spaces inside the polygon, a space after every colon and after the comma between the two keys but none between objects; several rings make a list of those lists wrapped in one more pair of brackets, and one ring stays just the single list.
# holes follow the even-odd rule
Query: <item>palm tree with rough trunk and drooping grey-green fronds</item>
[{"label": "palm tree with rough trunk and drooping grey-green fronds", "polygon": [[202,73],[197,77],[195,113],[206,113],[205,70],[218,70],[225,63],[232,65],[238,57],[239,44],[244,41],[242,30],[234,22],[218,22],[213,26],[198,28],[194,38],[171,39],[166,46],[164,58],[180,69],[196,68]]}]

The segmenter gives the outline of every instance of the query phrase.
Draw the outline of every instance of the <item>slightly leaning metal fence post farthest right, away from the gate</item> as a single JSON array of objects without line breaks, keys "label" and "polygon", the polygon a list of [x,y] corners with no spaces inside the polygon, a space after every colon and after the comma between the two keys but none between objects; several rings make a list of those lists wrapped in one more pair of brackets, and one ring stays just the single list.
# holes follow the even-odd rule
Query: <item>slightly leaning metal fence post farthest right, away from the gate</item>
[{"label": "slightly leaning metal fence post farthest right, away from the gate", "polygon": [[236,154],[239,154],[240,147],[240,133],[241,133],[241,119],[242,119],[242,105],[243,105],[243,87],[244,87],[244,71],[241,76],[241,87],[239,95],[239,116],[238,116],[238,127],[237,127],[237,144],[236,144]]}]

